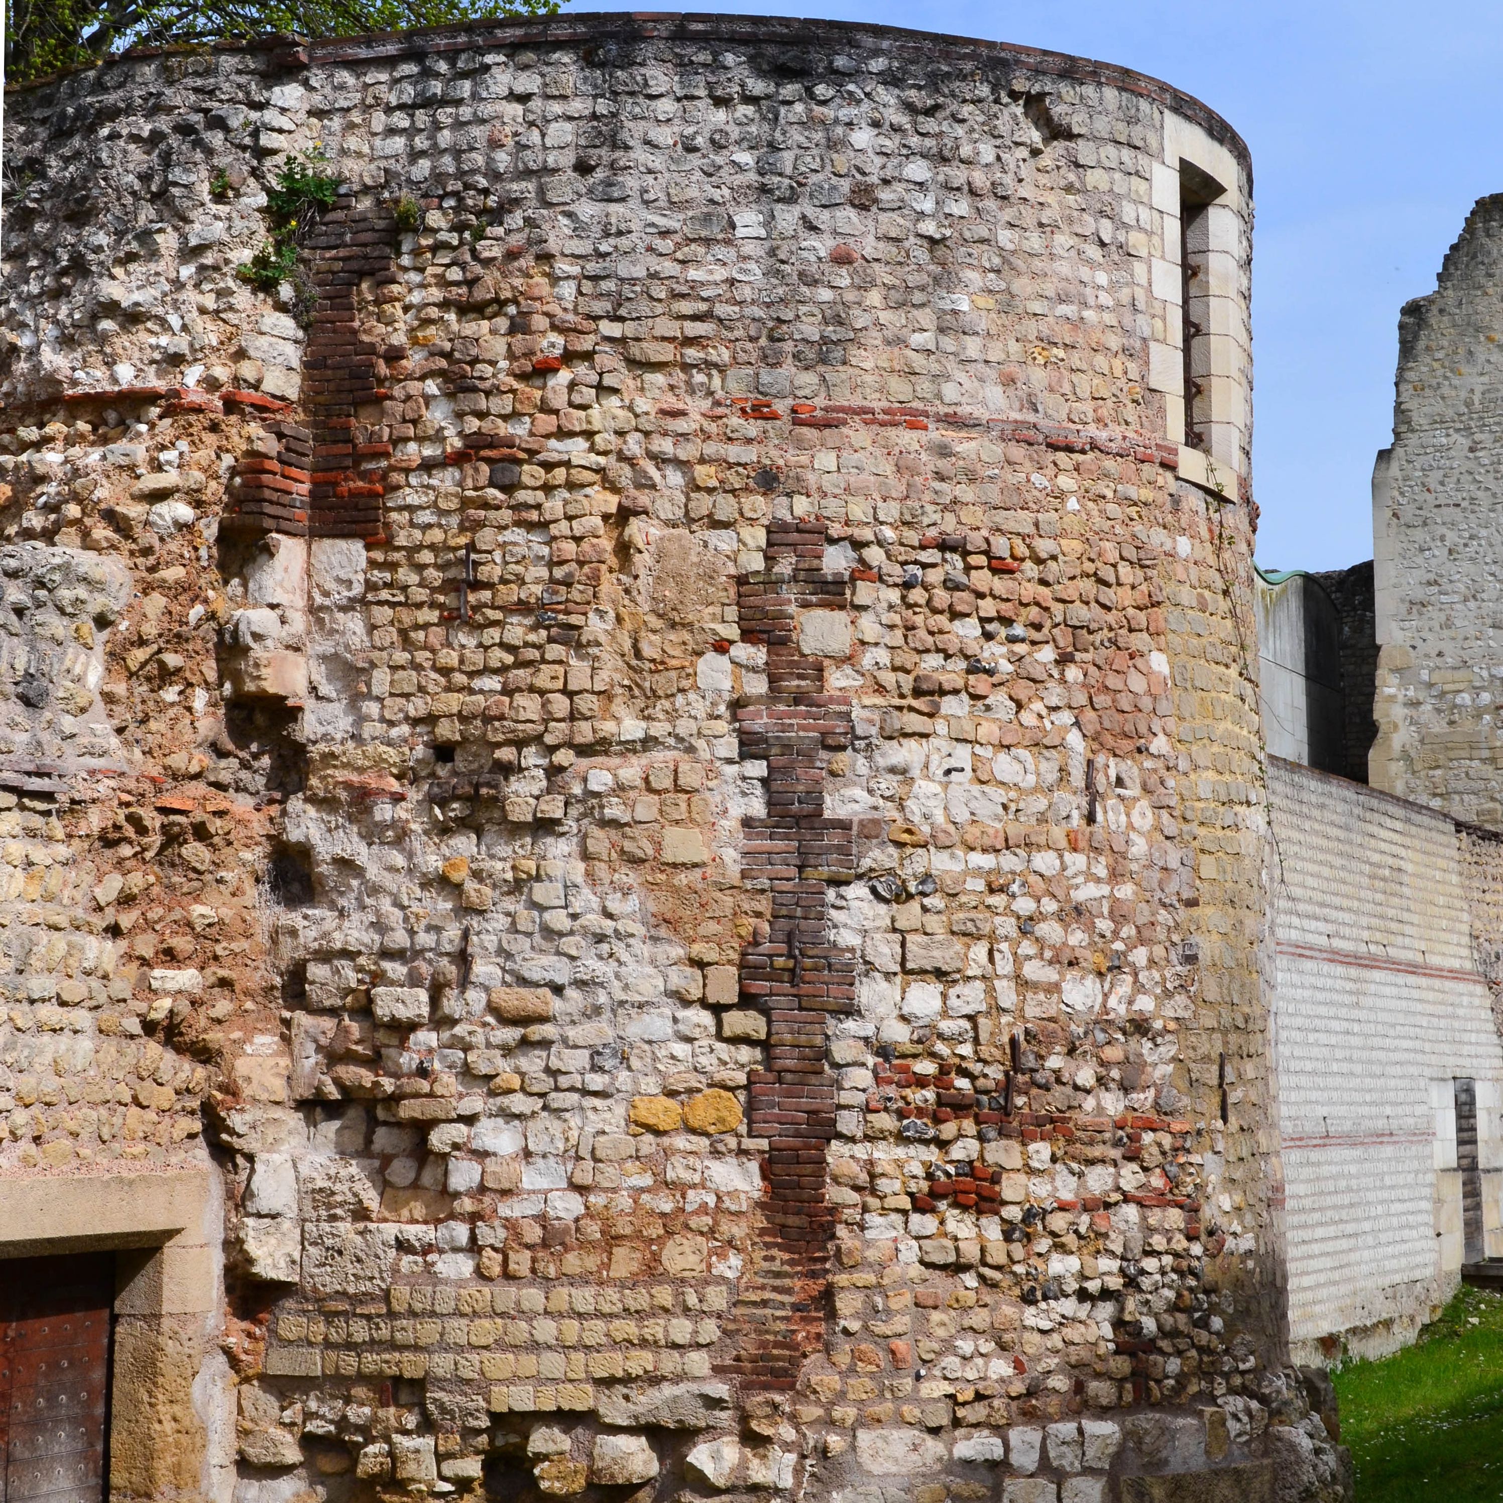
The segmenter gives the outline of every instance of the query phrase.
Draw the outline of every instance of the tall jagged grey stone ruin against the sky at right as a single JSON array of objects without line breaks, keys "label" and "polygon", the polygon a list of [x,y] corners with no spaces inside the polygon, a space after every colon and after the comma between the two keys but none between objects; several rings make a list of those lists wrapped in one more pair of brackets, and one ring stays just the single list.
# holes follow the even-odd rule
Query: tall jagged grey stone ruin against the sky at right
[{"label": "tall jagged grey stone ruin against the sky at right", "polygon": [[1393,448],[1374,475],[1375,788],[1497,828],[1503,765],[1497,400],[1503,198],[1479,198],[1435,292],[1404,305]]}]

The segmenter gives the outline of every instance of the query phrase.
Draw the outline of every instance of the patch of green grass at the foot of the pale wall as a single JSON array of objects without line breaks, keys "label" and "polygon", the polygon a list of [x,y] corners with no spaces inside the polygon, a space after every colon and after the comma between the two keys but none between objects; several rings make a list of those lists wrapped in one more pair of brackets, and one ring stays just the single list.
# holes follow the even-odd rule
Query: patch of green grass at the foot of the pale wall
[{"label": "patch of green grass at the foot of the pale wall", "polygon": [[1503,1296],[1464,1288],[1414,1347],[1335,1380],[1357,1503],[1503,1500]]}]

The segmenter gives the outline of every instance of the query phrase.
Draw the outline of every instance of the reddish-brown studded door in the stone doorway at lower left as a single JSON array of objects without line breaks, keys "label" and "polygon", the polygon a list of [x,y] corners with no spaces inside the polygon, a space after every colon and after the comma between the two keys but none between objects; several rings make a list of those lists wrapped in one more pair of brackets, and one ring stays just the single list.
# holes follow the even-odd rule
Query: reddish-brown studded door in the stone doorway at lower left
[{"label": "reddish-brown studded door in the stone doorway at lower left", "polygon": [[114,1257],[0,1263],[0,1503],[101,1503]]}]

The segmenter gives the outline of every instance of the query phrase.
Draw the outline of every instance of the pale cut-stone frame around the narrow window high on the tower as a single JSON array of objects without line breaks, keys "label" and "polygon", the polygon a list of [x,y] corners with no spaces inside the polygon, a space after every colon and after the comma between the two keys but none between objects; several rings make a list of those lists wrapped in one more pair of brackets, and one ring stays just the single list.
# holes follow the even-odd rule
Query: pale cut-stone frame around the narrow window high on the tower
[{"label": "pale cut-stone frame around the narrow window high on the tower", "polygon": [[[1189,162],[1222,185],[1205,209],[1208,278],[1205,338],[1196,377],[1208,416],[1201,422],[1204,449],[1184,443],[1184,310],[1180,271],[1180,164]],[[1148,386],[1165,398],[1168,437],[1180,443],[1180,476],[1217,493],[1235,494],[1250,412],[1252,331],[1241,245],[1247,204],[1235,156],[1190,120],[1165,113],[1163,161],[1153,164],[1153,207],[1160,215],[1162,246],[1150,266],[1150,290],[1163,304],[1163,338],[1148,347]]]}]

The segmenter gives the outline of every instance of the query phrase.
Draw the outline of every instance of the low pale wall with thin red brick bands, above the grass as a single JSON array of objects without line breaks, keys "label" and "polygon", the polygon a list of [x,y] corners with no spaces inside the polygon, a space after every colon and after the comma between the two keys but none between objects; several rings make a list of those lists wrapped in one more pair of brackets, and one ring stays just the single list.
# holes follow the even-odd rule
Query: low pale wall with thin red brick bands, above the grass
[{"label": "low pale wall with thin red brick bands, above the grass", "polygon": [[1269,809],[1290,1335],[1305,1362],[1383,1356],[1461,1282],[1456,1076],[1503,1244],[1503,861],[1444,815],[1272,758]]}]

